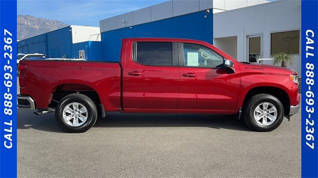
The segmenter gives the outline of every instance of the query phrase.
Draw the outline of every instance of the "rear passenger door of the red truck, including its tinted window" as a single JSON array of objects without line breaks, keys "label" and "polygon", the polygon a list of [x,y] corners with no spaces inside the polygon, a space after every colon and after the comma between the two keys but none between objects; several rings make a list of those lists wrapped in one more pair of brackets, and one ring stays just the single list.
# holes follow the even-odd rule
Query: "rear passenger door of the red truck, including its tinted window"
[{"label": "rear passenger door of the red truck, including its tinted window", "polygon": [[180,73],[177,44],[133,42],[132,48],[123,72],[123,107],[136,112],[139,109],[178,109]]}]

